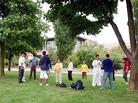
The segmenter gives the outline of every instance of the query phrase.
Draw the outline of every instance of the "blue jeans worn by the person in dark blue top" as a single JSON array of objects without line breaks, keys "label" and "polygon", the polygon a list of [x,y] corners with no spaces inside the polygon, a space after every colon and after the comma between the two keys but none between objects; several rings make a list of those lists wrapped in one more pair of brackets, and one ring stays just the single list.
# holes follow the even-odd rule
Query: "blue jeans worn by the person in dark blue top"
[{"label": "blue jeans worn by the person in dark blue top", "polygon": [[105,89],[106,80],[109,79],[110,89],[113,88],[113,73],[112,72],[104,72],[101,88]]}]

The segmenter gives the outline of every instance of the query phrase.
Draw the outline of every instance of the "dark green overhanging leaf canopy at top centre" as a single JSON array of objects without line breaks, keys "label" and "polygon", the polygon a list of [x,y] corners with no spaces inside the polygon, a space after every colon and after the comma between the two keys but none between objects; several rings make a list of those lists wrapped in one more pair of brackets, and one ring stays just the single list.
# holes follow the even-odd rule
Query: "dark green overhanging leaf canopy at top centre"
[{"label": "dark green overhanging leaf canopy at top centre", "polygon": [[[73,35],[82,32],[98,34],[103,26],[107,26],[117,11],[118,0],[43,0],[50,4],[47,18],[51,21],[59,19],[67,25]],[[94,20],[89,20],[91,16]]]}]

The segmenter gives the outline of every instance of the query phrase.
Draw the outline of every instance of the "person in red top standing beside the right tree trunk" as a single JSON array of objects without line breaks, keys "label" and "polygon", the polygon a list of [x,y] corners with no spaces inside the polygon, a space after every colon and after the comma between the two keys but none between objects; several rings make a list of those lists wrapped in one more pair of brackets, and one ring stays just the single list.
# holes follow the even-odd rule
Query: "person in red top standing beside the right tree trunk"
[{"label": "person in red top standing beside the right tree trunk", "polygon": [[126,83],[128,83],[127,74],[129,70],[130,70],[130,62],[128,58],[124,58],[123,79],[125,80]]}]

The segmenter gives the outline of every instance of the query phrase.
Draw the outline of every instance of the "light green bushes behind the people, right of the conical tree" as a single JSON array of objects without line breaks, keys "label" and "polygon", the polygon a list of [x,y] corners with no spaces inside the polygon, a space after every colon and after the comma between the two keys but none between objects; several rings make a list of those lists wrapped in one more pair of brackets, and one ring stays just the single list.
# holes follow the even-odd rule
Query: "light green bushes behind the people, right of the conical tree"
[{"label": "light green bushes behind the people, right of the conical tree", "polygon": [[95,42],[92,42],[91,45],[82,45],[76,52],[73,52],[73,54],[70,55],[68,59],[72,59],[75,68],[80,68],[80,65],[83,61],[86,61],[86,64],[89,66],[89,68],[92,68],[92,61],[95,59],[95,55],[99,54],[100,60],[103,61],[103,59],[105,59],[106,53],[110,54],[111,59],[114,62],[114,69],[122,69],[123,51],[121,48],[116,47],[111,50],[107,50]]}]

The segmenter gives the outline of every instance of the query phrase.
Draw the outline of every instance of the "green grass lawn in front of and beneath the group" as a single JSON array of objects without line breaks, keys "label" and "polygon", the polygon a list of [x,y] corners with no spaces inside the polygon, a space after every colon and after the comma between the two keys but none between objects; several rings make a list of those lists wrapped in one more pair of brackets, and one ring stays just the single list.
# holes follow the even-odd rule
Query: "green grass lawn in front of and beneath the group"
[{"label": "green grass lawn in front of and beneath the group", "polygon": [[[26,73],[27,78],[29,73]],[[67,80],[67,74],[63,74],[63,80],[67,88],[57,88],[54,74],[50,75],[49,86],[39,86],[39,74],[37,80],[27,80],[24,85],[18,84],[17,72],[6,72],[6,76],[0,78],[0,103],[138,103],[138,93],[128,92],[122,78],[116,78],[114,90],[110,90],[107,84],[106,90],[91,86],[92,76],[83,80],[85,90],[76,91],[69,88],[72,82]],[[81,75],[73,75],[74,81],[81,79]]]}]

